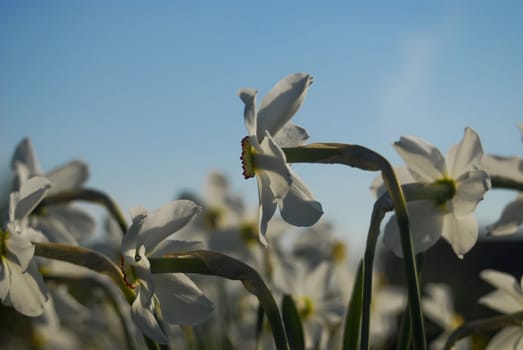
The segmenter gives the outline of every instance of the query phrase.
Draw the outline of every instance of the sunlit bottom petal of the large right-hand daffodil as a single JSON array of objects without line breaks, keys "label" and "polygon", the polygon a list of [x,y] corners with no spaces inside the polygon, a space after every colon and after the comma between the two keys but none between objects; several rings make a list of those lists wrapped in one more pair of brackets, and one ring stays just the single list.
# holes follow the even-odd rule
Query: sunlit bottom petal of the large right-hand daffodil
[{"label": "sunlit bottom petal of the large right-hand daffodil", "polygon": [[462,258],[478,240],[478,223],[472,214],[458,217],[449,213],[443,218],[441,234],[450,243],[454,253]]}]

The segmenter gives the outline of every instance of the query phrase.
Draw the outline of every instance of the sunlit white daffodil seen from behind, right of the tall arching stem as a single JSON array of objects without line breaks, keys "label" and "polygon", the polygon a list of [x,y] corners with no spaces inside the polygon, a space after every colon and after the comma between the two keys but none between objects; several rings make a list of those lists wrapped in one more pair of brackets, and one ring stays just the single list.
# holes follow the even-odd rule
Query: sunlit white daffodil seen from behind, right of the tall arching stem
[{"label": "sunlit white daffodil seen from behind, right of the tall arching stem", "polygon": [[[463,140],[450,148],[446,158],[434,146],[412,136],[402,137],[394,147],[414,181],[446,184],[453,189],[452,198],[444,202],[420,200],[408,203],[414,251],[427,250],[443,236],[454,252],[463,257],[478,237],[474,210],[490,189],[487,172],[479,168],[483,156],[479,136],[471,128],[466,128]],[[383,242],[395,254],[403,255],[395,217],[385,227]]]}]

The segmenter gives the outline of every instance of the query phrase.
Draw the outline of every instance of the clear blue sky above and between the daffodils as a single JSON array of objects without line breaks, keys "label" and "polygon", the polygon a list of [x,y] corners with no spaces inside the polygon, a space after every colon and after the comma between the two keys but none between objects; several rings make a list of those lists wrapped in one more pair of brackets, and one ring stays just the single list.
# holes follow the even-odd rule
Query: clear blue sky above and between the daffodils
[{"label": "clear blue sky above and between the daffodils", "polygon": [[[201,191],[211,170],[254,208],[236,92],[261,100],[294,72],[314,76],[293,119],[310,142],[399,164],[400,136],[446,153],[470,126],[487,153],[522,155],[522,18],[520,1],[2,1],[0,174],[30,137],[44,170],[83,159],[88,186],[126,211]],[[375,174],[295,169],[361,254]],[[491,191],[478,218],[495,220],[513,196]]]}]

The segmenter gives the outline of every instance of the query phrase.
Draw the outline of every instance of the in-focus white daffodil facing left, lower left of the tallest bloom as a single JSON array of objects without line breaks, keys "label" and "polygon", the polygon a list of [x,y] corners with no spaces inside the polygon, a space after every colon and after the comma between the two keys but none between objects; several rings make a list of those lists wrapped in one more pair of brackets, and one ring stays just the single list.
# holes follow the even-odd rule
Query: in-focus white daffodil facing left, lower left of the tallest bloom
[{"label": "in-focus white daffodil facing left, lower left of the tallest bloom", "polygon": [[[185,274],[152,274],[149,257],[197,249],[198,242],[166,239],[184,227],[200,207],[189,200],[177,200],[148,213],[133,210],[133,223],[122,240],[121,253],[127,283],[136,288],[131,306],[133,321],[151,339],[167,343],[159,320],[175,325],[205,321],[212,303]],[[134,281],[131,279],[134,278]]]}]

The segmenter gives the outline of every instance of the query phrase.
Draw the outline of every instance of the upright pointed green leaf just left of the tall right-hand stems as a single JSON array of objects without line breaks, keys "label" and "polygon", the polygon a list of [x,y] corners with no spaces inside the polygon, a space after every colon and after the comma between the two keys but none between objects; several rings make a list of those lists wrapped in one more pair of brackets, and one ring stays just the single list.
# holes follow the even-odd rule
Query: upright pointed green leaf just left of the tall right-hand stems
[{"label": "upright pointed green leaf just left of the tall right-hand stems", "polygon": [[357,349],[359,346],[362,302],[363,262],[360,262],[345,316],[345,329],[343,331],[344,350]]}]

